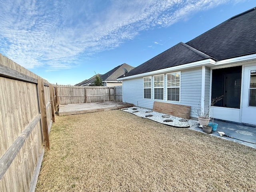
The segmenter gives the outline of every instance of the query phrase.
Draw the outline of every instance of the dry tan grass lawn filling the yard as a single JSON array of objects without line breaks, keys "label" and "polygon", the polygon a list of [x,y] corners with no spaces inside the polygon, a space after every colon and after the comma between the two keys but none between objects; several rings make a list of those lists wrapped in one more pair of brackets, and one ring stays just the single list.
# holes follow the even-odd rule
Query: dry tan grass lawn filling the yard
[{"label": "dry tan grass lawn filling the yard", "polygon": [[256,191],[256,150],[121,110],[56,116],[36,192]]}]

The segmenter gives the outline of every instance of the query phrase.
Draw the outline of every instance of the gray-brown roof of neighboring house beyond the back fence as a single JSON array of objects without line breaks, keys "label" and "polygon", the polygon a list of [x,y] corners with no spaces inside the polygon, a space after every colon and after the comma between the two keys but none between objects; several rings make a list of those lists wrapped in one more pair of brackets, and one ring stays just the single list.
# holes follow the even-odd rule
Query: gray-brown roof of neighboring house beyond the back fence
[{"label": "gray-brown roof of neighboring house beyond the back fence", "polygon": [[[100,76],[100,78],[102,78],[102,82],[117,82],[117,78],[119,76],[122,76],[124,75],[124,69],[123,68],[126,68],[126,70],[129,72],[130,70],[132,70],[134,67],[124,63],[124,64],[121,64],[117,67],[115,67],[114,69],[106,72],[105,74],[101,75],[101,74],[98,74]],[[91,77],[89,80],[87,80],[86,82],[84,82],[83,84],[81,85],[87,85],[87,84],[93,84],[94,81],[95,81],[95,76],[94,75],[93,77]]]}]

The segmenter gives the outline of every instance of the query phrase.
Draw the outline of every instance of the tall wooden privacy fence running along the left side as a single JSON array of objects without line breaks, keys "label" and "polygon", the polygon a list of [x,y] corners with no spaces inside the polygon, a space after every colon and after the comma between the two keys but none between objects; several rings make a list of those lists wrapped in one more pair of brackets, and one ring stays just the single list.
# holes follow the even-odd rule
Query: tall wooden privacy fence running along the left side
[{"label": "tall wooden privacy fence running along the left side", "polygon": [[54,88],[0,54],[0,191],[34,191],[54,122]]}]

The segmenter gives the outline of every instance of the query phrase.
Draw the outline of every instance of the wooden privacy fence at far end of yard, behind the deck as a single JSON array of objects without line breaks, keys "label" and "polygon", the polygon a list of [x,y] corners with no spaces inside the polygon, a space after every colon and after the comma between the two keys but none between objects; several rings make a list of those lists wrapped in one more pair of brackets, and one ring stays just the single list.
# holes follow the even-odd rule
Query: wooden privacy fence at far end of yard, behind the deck
[{"label": "wooden privacy fence at far end of yard, behind the deck", "polygon": [[56,104],[78,104],[104,101],[122,102],[122,86],[65,86],[54,85]]}]

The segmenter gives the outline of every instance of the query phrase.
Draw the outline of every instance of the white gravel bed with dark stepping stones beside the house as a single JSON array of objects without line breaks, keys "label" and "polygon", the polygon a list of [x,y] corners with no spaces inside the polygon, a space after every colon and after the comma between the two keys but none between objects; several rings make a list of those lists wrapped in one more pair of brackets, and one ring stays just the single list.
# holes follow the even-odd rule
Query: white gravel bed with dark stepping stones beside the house
[{"label": "white gravel bed with dark stepping stones beside the house", "polygon": [[[196,120],[183,119],[183,118],[172,116],[172,115],[169,116],[168,114],[155,112],[155,111],[148,110],[145,108],[130,107],[130,108],[124,108],[121,110],[132,113],[139,117],[147,118],[147,119],[150,119],[150,120],[162,123],[162,124],[166,124],[166,125],[178,127],[178,128],[189,128],[193,125],[198,124],[198,121],[196,121]],[[167,116],[167,117],[163,117],[163,116]],[[167,121],[172,120],[172,122],[164,122],[164,120],[167,120]]]}]

